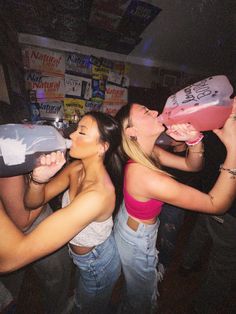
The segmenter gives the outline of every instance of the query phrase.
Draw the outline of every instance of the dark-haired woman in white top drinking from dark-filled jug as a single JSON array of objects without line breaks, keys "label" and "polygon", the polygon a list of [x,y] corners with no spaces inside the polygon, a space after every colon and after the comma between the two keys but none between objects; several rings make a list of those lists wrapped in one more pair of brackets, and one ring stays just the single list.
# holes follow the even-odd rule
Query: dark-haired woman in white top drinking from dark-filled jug
[{"label": "dark-haired woman in white top drinking from dark-filled jug", "polygon": [[22,267],[70,241],[69,252],[79,268],[76,313],[106,313],[121,268],[112,234],[116,203],[112,180],[117,176],[115,150],[121,133],[112,117],[90,112],[70,137],[70,156],[76,160],[54,176],[65,163],[64,155],[41,157],[25,195],[26,206],[37,208],[66,191],[64,208],[28,235],[13,228],[1,213],[0,271]]}]

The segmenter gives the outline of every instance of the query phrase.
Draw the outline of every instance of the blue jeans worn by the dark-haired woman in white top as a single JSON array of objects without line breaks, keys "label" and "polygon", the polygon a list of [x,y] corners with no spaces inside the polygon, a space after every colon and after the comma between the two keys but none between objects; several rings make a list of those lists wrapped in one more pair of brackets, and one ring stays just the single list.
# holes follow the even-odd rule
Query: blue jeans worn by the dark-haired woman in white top
[{"label": "blue jeans worn by the dark-haired woman in white top", "polygon": [[76,313],[109,313],[112,289],[121,273],[113,233],[87,254],[78,255],[70,247],[69,254],[78,267]]}]

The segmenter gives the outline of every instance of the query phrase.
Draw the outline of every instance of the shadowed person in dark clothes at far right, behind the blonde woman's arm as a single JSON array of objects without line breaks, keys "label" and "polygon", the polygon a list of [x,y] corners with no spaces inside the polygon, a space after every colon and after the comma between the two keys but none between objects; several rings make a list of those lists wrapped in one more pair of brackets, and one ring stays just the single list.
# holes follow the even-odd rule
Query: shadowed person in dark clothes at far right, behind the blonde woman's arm
[{"label": "shadowed person in dark clothes at far right, behind the blonde woman's arm", "polygon": [[[203,189],[207,192],[217,180],[219,175],[217,169],[224,162],[226,150],[212,132],[207,132],[204,142],[206,154],[202,182]],[[234,176],[233,173],[232,176]],[[208,266],[200,287],[193,298],[194,313],[220,313],[222,311],[220,306],[229,296],[232,285],[236,284],[235,230],[236,200],[223,215],[198,214],[198,219],[184,249],[183,261],[179,268],[179,273],[182,276],[188,276],[196,269],[201,269],[203,248],[208,245]],[[230,304],[230,301],[228,304]],[[226,310],[225,306],[224,310]],[[227,313],[233,313],[235,309],[228,308],[227,311]]]}]

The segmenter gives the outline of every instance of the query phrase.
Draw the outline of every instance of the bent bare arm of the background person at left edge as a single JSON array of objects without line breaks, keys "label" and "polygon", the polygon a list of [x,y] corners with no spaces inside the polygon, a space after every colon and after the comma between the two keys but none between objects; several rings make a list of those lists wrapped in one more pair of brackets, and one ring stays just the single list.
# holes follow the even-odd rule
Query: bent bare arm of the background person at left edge
[{"label": "bent bare arm of the background person at left edge", "polygon": [[25,181],[23,175],[0,178],[0,208],[6,211],[13,223],[21,230],[29,228],[43,208],[39,207],[32,211],[25,207],[23,202]]}]

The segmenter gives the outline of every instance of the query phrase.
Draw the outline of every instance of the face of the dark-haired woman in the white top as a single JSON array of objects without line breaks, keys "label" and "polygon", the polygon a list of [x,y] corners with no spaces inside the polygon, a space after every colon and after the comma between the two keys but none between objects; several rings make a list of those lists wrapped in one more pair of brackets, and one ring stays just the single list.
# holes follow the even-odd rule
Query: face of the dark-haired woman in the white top
[{"label": "face of the dark-haired woman in the white top", "polygon": [[99,131],[96,121],[91,116],[83,117],[78,128],[70,135],[72,146],[70,156],[78,159],[98,155],[100,149]]}]

